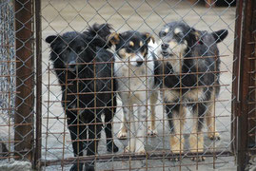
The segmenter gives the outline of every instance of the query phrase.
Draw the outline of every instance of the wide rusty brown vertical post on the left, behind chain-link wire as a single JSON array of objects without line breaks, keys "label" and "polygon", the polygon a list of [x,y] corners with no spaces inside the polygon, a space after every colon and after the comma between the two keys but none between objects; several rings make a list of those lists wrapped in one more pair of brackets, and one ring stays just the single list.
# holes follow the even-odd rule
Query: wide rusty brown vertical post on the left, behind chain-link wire
[{"label": "wide rusty brown vertical post on the left, behind chain-link wire", "polygon": [[21,160],[33,161],[34,66],[32,0],[15,0],[16,91],[14,151]]}]

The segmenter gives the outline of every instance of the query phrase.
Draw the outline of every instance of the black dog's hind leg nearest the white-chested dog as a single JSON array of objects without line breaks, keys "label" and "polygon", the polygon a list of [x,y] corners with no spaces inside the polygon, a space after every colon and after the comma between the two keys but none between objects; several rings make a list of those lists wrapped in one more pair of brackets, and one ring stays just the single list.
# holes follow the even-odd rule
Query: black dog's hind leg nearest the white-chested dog
[{"label": "black dog's hind leg nearest the white-chested dog", "polygon": [[112,121],[116,111],[116,97],[108,103],[108,107],[105,109],[105,132],[107,137],[107,150],[108,152],[117,152],[118,147],[115,145],[113,140],[112,132]]}]

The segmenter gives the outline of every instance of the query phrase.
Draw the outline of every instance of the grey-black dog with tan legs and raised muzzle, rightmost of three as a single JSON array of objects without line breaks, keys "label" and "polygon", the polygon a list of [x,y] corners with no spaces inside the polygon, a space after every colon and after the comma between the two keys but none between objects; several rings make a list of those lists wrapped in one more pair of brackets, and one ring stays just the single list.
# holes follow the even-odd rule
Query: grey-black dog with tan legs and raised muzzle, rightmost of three
[{"label": "grey-black dog with tan legs and raised muzzle, rightmost of three", "polygon": [[[183,153],[186,106],[194,119],[189,137],[190,152],[203,152],[202,127],[207,121],[209,139],[220,139],[215,130],[215,98],[220,92],[220,57],[217,44],[226,38],[227,30],[196,30],[183,22],[168,23],[159,32],[158,50],[163,60],[163,92],[171,135],[171,151]],[[193,158],[204,160],[204,158]]]}]

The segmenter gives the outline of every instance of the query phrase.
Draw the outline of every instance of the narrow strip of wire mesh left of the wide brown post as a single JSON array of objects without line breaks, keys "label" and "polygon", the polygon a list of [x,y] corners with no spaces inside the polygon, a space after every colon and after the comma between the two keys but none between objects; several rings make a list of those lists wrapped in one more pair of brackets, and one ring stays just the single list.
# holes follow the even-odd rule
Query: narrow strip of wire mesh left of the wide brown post
[{"label": "narrow strip of wire mesh left of the wide brown post", "polygon": [[11,1],[0,1],[0,159],[10,159],[13,152],[15,107],[14,12]]}]

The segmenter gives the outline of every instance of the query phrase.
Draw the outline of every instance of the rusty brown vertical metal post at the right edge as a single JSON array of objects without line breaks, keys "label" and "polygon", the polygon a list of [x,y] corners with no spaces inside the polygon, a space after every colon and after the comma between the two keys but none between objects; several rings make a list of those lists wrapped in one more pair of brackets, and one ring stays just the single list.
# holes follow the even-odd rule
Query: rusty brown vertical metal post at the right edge
[{"label": "rusty brown vertical metal post at the right edge", "polygon": [[[249,94],[249,85],[250,83],[250,61],[251,52],[253,46],[248,44],[252,41],[251,36],[251,24],[253,20],[253,1],[254,0],[244,0],[240,1],[239,4],[243,7],[240,13],[242,17],[242,22],[240,25],[240,38],[239,42],[236,43],[236,46],[239,49],[235,50],[235,53],[238,52],[238,61],[240,65],[234,69],[240,70],[238,73],[238,93],[237,93],[237,102],[239,102],[238,109],[236,110],[237,116],[237,170],[243,171],[246,169],[246,164],[248,162],[248,94]],[[239,27],[239,26],[238,26]],[[239,44],[239,45],[238,45]],[[235,54],[236,55],[236,54]],[[235,66],[234,66],[235,67]]]}]

